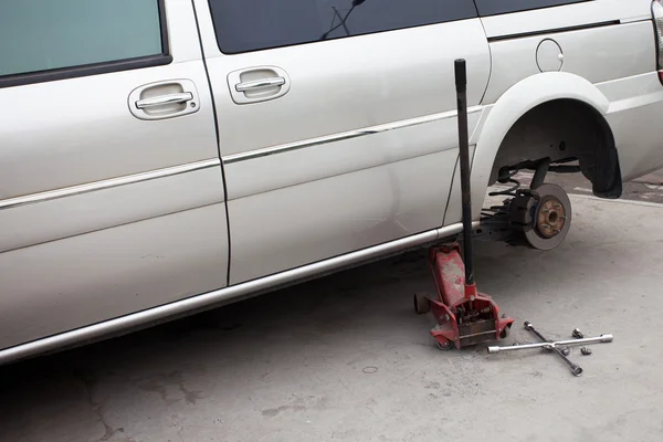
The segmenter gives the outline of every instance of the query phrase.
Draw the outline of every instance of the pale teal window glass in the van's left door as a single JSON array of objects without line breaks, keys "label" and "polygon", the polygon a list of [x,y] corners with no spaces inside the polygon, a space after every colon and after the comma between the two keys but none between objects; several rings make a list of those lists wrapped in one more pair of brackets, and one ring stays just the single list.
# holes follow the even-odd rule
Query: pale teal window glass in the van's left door
[{"label": "pale teal window glass in the van's left door", "polygon": [[158,0],[0,0],[0,76],[161,52]]}]

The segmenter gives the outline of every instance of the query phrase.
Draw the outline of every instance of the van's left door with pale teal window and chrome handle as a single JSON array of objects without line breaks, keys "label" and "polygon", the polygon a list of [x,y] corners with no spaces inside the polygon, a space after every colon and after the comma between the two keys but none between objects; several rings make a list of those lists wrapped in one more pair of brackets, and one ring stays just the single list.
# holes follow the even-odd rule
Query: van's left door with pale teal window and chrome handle
[{"label": "van's left door with pale teal window and chrome handle", "polygon": [[0,348],[225,285],[191,3],[0,10]]}]

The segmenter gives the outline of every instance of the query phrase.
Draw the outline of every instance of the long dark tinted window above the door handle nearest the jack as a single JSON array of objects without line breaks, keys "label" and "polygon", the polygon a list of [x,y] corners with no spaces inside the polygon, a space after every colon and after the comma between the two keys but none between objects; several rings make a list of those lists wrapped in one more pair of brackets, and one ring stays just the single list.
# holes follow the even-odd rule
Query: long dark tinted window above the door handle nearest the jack
[{"label": "long dark tinted window above the door handle nearest the jack", "polygon": [[221,51],[238,53],[476,17],[472,0],[209,0]]}]

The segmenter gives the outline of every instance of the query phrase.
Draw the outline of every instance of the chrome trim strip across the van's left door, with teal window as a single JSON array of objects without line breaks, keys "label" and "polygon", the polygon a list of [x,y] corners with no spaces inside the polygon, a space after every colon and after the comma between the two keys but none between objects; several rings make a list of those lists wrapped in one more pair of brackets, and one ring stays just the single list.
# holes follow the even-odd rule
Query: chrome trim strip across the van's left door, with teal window
[{"label": "chrome trim strip across the van's left door, with teal window", "polygon": [[189,162],[187,165],[167,167],[164,169],[150,170],[147,172],[140,172],[135,175],[127,175],[124,177],[110,178],[107,180],[90,182],[86,185],[64,187],[62,189],[31,193],[24,197],[9,198],[6,200],[0,200],[0,210],[11,209],[19,206],[33,204],[35,202],[55,200],[59,198],[73,197],[75,194],[94,192],[96,190],[104,190],[119,186],[133,185],[135,182],[140,181],[149,181],[157,178],[171,177],[173,175],[191,172],[194,170],[207,169],[215,166],[221,166],[221,161],[219,160],[219,158],[206,159],[202,161]]}]

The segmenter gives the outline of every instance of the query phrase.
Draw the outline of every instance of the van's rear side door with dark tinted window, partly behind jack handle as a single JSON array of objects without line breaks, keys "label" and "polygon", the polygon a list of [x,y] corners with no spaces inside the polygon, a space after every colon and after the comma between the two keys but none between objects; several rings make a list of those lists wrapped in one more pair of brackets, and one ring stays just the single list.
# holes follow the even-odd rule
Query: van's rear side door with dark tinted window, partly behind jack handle
[{"label": "van's rear side door with dark tinted window, partly behind jack handle", "polygon": [[467,60],[471,106],[490,73],[472,0],[194,4],[231,283],[442,225],[457,158],[453,61]]}]

